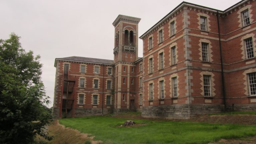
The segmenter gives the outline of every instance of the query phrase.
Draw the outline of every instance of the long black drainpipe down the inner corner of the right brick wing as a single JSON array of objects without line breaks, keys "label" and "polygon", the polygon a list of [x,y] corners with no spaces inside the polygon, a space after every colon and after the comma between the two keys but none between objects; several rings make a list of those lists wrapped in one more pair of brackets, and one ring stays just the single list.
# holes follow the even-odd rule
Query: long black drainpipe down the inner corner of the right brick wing
[{"label": "long black drainpipe down the inner corner of the right brick wing", "polygon": [[218,21],[219,46],[220,46],[220,62],[221,62],[222,92],[223,92],[224,111],[226,112],[226,111],[227,111],[227,107],[226,107],[226,92],[225,92],[224,72],[223,72],[223,61],[222,61],[222,49],[221,49],[221,40],[220,40],[219,11],[217,11],[217,21]]}]

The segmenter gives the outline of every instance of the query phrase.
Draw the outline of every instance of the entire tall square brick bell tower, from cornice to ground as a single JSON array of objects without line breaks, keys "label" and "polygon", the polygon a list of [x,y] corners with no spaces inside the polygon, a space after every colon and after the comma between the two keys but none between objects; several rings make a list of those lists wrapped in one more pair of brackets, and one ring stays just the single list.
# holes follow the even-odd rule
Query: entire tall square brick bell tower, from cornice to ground
[{"label": "entire tall square brick bell tower, from cornice to ground", "polygon": [[138,24],[140,18],[118,15],[114,46],[114,108],[118,111],[133,110],[135,95],[135,65],[138,59]]}]

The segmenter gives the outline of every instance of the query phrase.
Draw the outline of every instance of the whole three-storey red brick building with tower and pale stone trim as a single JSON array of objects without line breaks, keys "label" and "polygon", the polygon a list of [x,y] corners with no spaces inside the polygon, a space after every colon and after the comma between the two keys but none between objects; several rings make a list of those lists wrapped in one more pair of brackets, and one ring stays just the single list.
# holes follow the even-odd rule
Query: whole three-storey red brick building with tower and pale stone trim
[{"label": "whole three-storey red brick building with tower and pale stone trim", "polygon": [[56,58],[56,117],[142,111],[143,117],[256,110],[256,2],[225,11],[182,2],[146,31],[119,15],[114,61]]}]

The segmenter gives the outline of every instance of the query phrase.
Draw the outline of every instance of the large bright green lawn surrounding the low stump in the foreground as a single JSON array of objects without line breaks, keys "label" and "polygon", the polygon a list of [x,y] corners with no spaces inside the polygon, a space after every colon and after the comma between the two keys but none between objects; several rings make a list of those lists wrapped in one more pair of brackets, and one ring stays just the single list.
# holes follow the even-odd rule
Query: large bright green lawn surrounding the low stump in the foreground
[{"label": "large bright green lawn surrounding the low stump in the foreground", "polygon": [[256,135],[256,126],[179,121],[135,120],[138,127],[120,127],[127,119],[84,117],[60,119],[60,124],[95,136],[107,144],[206,144],[221,138]]}]

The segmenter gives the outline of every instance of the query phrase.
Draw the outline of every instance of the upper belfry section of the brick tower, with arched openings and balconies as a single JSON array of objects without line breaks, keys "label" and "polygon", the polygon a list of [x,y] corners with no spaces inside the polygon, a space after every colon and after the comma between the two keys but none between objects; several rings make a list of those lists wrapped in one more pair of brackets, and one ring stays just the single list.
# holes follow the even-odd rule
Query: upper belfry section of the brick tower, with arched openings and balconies
[{"label": "upper belfry section of the brick tower, with arched openings and balconies", "polygon": [[134,62],[138,59],[138,24],[140,18],[118,15],[115,27],[114,63]]}]

